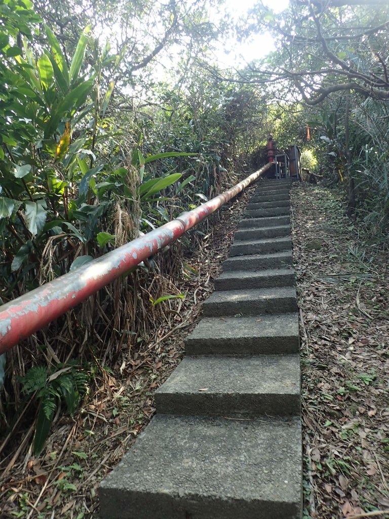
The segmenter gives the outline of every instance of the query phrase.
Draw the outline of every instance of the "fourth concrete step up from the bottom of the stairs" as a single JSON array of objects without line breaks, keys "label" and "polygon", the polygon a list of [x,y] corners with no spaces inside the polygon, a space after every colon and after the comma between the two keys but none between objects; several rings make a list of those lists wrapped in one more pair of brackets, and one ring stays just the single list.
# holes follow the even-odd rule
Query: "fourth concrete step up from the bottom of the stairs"
[{"label": "fourth concrete step up from the bottom of the stairs", "polygon": [[296,289],[293,286],[282,286],[214,292],[204,302],[203,311],[207,317],[297,312]]}]

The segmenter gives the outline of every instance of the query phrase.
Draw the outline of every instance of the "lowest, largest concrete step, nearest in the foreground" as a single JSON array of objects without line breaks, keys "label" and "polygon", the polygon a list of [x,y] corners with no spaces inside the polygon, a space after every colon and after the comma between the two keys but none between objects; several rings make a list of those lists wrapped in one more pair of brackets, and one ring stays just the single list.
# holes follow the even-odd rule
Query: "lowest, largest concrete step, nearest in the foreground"
[{"label": "lowest, largest concrete step, nearest in the foreground", "polygon": [[299,419],[157,415],[99,488],[101,519],[300,519]]}]

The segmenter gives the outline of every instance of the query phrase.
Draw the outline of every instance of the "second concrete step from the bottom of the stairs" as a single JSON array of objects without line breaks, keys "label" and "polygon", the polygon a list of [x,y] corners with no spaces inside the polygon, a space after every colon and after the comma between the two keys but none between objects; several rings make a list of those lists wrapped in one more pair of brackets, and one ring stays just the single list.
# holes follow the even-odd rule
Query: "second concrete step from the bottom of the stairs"
[{"label": "second concrete step from the bottom of the stairs", "polygon": [[185,357],[155,402],[168,415],[298,416],[300,357]]}]

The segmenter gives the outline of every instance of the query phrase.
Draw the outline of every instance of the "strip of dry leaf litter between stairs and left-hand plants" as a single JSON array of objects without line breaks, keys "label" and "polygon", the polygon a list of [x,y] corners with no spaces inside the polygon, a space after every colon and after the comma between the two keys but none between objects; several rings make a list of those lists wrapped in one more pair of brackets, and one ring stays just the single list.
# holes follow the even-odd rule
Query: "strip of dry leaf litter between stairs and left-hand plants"
[{"label": "strip of dry leaf litter between stairs and left-hand plants", "polygon": [[213,291],[250,191],[226,204],[214,224],[203,228],[196,249],[184,254],[186,276],[165,280],[185,298],[178,305],[174,299],[164,302],[164,319],[155,321],[154,330],[150,327],[150,339],[140,350],[131,350],[131,341],[127,352],[120,345],[120,359],[99,371],[73,418],[57,414],[41,456],[33,455],[34,426],[18,431],[21,442],[9,442],[5,452],[5,444],[0,445],[1,519],[96,517],[96,489],[154,414],[154,391],[183,357],[184,338]]}]

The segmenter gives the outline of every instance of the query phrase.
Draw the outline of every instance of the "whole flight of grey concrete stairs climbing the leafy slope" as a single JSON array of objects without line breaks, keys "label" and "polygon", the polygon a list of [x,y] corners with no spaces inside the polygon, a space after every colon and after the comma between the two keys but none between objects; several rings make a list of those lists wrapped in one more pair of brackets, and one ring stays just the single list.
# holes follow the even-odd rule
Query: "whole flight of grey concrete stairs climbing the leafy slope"
[{"label": "whole flight of grey concrete stairs climbing the leafy slope", "polygon": [[257,185],[157,414],[99,489],[102,519],[300,519],[289,180]]}]

